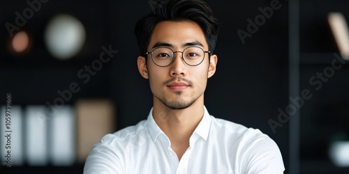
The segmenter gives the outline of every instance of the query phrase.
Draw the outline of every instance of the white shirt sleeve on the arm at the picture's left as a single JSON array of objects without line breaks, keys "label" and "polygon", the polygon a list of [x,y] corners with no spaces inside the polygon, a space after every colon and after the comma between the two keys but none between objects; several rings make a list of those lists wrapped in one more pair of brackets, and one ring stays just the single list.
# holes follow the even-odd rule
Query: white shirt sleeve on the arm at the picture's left
[{"label": "white shirt sleeve on the arm at the picture's left", "polygon": [[92,148],[84,164],[84,174],[124,173],[117,152],[110,145],[98,143]]}]

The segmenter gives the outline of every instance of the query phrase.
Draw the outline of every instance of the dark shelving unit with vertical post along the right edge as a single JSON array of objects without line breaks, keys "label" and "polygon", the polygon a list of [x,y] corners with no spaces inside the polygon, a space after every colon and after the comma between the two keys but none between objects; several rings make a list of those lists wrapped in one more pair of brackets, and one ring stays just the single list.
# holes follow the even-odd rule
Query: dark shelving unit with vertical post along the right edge
[{"label": "dark shelving unit with vertical post along the right edge", "polygon": [[336,135],[349,135],[349,61],[339,56],[327,24],[331,12],[348,21],[349,1],[289,3],[289,95],[304,89],[312,95],[290,118],[290,173],[349,173],[329,158]]}]

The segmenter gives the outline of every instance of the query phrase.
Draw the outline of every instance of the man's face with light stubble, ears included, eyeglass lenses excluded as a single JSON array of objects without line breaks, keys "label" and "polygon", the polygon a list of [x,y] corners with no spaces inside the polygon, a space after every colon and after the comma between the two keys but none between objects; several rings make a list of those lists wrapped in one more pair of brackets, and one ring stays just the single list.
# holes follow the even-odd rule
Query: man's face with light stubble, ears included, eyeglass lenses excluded
[{"label": "man's face with light stubble, ears included, eyeglass lenses excluded", "polygon": [[[160,22],[154,27],[147,52],[156,47],[169,47],[174,52],[174,61],[167,67],[159,67],[151,61],[151,55],[144,60],[138,58],[138,68],[144,78],[149,79],[154,105],[164,104],[170,109],[186,109],[194,102],[202,102],[207,79],[216,70],[216,55],[205,53],[200,65],[187,65],[181,57],[186,47],[195,45],[208,51],[205,34],[195,22]],[[143,61],[142,61],[143,60]],[[147,61],[147,64],[144,63]]]}]

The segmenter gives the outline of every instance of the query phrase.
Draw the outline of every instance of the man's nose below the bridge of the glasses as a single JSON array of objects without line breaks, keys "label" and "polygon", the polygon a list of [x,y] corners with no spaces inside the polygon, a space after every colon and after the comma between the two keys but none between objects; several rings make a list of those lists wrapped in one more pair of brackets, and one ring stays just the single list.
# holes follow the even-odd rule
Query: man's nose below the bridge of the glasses
[{"label": "man's nose below the bridge of the glasses", "polygon": [[170,76],[186,76],[186,63],[182,58],[182,52],[174,52],[174,60],[170,65]]}]

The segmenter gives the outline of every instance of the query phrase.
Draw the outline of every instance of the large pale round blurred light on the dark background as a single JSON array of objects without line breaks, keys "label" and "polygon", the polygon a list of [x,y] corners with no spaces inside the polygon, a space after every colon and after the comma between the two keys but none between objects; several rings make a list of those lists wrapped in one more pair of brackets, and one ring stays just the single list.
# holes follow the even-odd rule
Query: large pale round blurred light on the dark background
[{"label": "large pale round blurred light on the dark background", "polygon": [[70,15],[58,15],[47,25],[45,42],[55,58],[61,60],[75,56],[84,46],[86,31],[84,25]]}]

